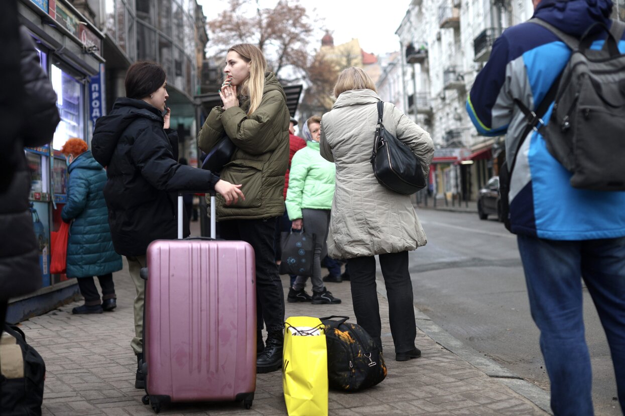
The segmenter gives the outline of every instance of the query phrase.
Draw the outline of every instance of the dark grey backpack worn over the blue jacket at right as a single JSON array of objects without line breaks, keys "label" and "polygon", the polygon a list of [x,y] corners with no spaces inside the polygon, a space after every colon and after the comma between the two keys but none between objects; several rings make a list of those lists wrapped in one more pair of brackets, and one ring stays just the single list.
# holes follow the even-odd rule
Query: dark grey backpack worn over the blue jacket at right
[{"label": "dark grey backpack worn over the blue jacket at right", "polygon": [[[608,30],[596,23],[576,39],[539,19],[530,22],[572,50],[556,80],[551,119],[540,129],[549,153],[573,174],[574,188],[625,190],[625,55],[618,49],[625,24],[612,20]],[[609,32],[600,51],[589,49],[597,26]]]}]

